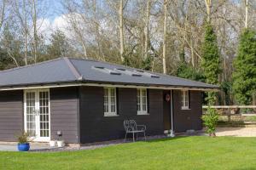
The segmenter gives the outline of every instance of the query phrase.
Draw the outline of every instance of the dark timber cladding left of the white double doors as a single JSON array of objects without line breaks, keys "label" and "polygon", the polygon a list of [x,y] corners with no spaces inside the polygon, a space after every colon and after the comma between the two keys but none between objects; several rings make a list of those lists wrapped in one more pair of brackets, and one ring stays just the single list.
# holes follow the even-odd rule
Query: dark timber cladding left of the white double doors
[{"label": "dark timber cladding left of the white double doors", "polygon": [[23,90],[0,93],[0,141],[15,141],[23,129]]}]

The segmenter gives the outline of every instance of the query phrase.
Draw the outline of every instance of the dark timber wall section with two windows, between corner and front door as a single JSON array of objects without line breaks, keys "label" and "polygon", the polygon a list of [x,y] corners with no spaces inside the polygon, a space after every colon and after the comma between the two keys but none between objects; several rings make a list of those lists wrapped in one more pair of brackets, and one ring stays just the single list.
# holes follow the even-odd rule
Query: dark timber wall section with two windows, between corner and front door
[{"label": "dark timber wall section with two windows, between corner and front door", "polygon": [[134,119],[147,125],[147,135],[163,133],[162,90],[149,89],[149,115],[137,115],[137,89],[117,88],[119,116],[104,116],[103,88],[80,88],[80,141],[89,143],[124,138],[123,122]]}]

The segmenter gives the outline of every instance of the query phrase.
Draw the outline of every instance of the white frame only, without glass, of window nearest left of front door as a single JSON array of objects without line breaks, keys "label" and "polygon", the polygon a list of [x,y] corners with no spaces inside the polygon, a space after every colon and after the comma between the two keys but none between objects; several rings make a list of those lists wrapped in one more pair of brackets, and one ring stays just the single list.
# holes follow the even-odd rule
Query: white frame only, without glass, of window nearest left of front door
[{"label": "white frame only, without glass, of window nearest left of front door", "polygon": [[[140,92],[138,95],[138,91]],[[146,111],[143,111],[143,91],[146,92]],[[137,88],[137,115],[148,115],[148,92],[147,88]]]}]

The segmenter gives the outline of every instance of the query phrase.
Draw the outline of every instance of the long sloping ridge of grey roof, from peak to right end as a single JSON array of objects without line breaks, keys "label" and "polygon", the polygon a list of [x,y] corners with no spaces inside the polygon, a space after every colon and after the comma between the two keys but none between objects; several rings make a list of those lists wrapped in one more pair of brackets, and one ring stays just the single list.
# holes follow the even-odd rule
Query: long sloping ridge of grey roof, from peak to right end
[{"label": "long sloping ridge of grey roof, from peak to right end", "polygon": [[120,64],[116,64],[116,63],[110,63],[110,62],[108,62],[108,61],[99,61],[99,60],[94,60],[94,59],[78,59],[78,58],[70,58],[70,59],[85,60],[85,61],[95,61],[95,62],[100,62],[100,63],[106,63],[106,64],[110,64],[110,65],[116,65],[116,66],[126,67],[126,68],[133,69],[133,70],[145,71],[145,72],[148,72],[148,73],[150,73],[150,74],[157,74],[157,75],[164,76],[164,77],[173,77],[173,78],[176,78],[176,79],[182,79],[182,80],[184,80],[184,81],[188,81],[188,82],[201,83],[202,85],[213,85],[213,86],[218,86],[218,85],[215,85],[215,84],[209,84],[209,83],[206,83],[206,82],[197,82],[197,81],[195,81],[195,80],[190,80],[190,79],[187,79],[187,78],[174,77],[174,76],[166,75],[166,74],[159,73],[159,72],[146,71],[146,70],[138,69],[138,68],[134,68],[134,67],[131,67],[131,66],[120,65]]}]

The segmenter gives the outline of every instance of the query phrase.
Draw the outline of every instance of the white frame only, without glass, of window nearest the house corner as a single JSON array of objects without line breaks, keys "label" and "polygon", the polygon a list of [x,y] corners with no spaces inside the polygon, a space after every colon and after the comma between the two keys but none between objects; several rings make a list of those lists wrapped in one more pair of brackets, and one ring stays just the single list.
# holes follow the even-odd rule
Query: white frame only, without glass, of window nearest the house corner
[{"label": "white frame only, without glass, of window nearest the house corner", "polygon": [[[105,89],[108,89],[108,111],[105,111]],[[111,90],[114,89],[114,111],[111,111]],[[116,103],[116,88],[104,88],[104,116],[118,116]]]}]

